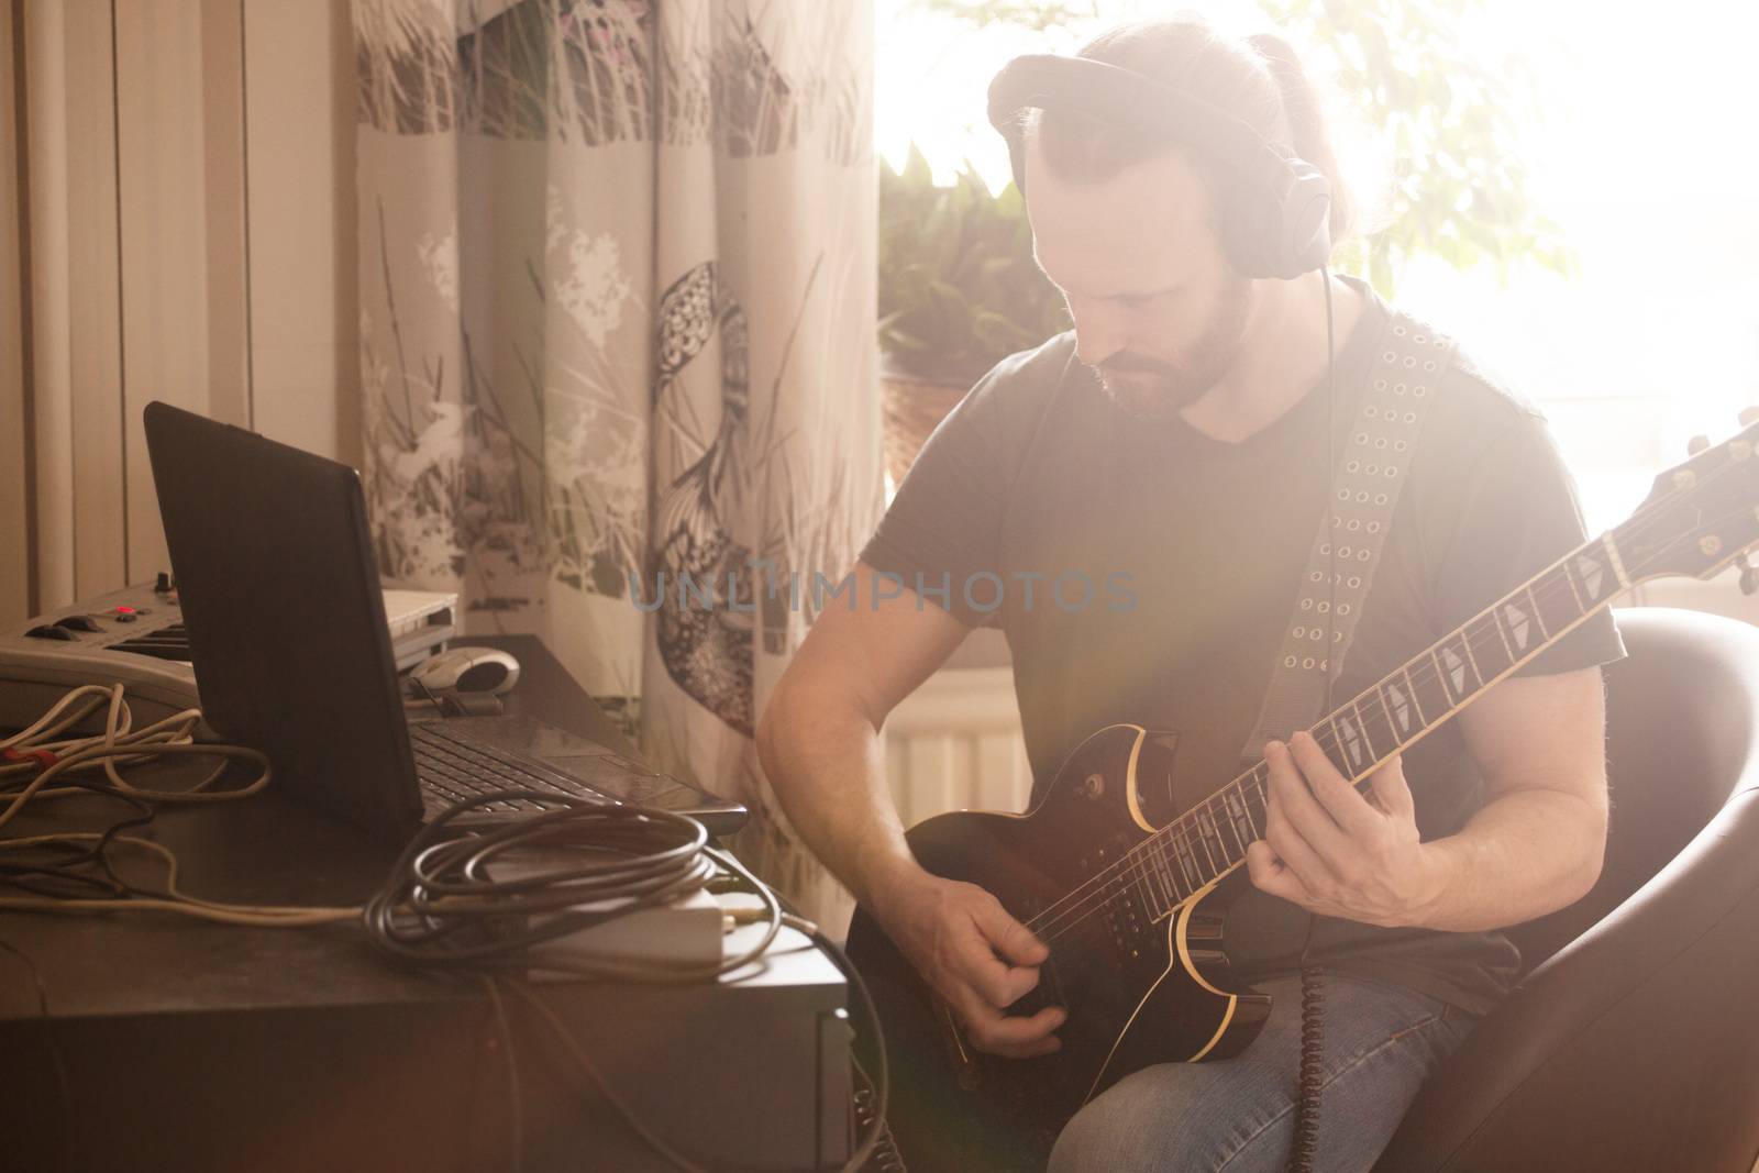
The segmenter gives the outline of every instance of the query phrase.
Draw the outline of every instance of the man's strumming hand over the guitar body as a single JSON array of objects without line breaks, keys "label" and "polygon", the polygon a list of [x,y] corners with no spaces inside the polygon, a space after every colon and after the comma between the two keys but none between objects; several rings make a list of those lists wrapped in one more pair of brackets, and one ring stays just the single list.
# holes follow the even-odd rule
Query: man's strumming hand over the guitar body
[{"label": "man's strumming hand over the guitar body", "polygon": [[916,973],[946,999],[973,1046],[1008,1059],[1048,1055],[1066,1013],[1047,1006],[1031,1016],[1008,1006],[1038,985],[1048,950],[1001,900],[976,885],[922,869],[874,895],[874,918]]}]

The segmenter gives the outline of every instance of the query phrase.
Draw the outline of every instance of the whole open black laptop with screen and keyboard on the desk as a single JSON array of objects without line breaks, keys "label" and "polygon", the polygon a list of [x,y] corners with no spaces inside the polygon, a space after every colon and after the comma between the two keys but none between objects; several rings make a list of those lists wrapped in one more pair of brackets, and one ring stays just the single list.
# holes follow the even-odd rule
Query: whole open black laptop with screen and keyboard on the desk
[{"label": "whole open black laptop with screen and keyboard on the desk", "polygon": [[[536,790],[737,830],[746,809],[522,716],[408,719],[355,470],[165,403],[144,413],[208,725],[274,786],[406,841],[463,797]],[[507,798],[505,818],[538,804]]]}]

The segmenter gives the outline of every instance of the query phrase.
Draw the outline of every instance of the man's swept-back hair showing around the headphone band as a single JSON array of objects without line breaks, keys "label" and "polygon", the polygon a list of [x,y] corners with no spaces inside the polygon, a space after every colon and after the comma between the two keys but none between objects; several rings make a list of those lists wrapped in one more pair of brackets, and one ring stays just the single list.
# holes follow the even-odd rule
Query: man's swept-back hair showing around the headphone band
[{"label": "man's swept-back hair showing around the headphone band", "polygon": [[[1233,114],[1266,141],[1307,160],[1332,183],[1332,239],[1349,234],[1354,200],[1344,188],[1319,93],[1289,42],[1275,33],[1221,35],[1196,14],[1120,25],[1089,40],[1077,56],[1150,77]],[[1129,164],[1179,146],[1177,135],[1106,121],[1071,109],[1029,111],[1045,165],[1059,178],[1099,183]],[[1191,153],[1214,190],[1224,162]]]}]

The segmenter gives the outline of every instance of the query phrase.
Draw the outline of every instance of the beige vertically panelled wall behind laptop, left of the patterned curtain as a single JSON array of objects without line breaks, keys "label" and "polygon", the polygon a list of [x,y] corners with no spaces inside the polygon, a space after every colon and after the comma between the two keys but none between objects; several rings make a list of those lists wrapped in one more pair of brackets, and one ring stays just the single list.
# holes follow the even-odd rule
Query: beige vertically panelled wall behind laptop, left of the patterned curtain
[{"label": "beige vertically panelled wall behind laptop, left of the patterned curtain", "polygon": [[347,0],[0,4],[11,626],[169,565],[151,399],[359,457],[354,49]]}]

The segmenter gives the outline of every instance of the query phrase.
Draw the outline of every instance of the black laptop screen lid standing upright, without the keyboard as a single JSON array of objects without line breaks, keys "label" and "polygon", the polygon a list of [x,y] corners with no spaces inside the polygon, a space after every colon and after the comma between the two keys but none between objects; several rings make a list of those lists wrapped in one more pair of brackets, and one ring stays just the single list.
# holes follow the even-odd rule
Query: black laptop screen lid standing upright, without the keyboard
[{"label": "black laptop screen lid standing upright, without the keyboard", "polygon": [[164,403],[146,447],[208,723],[278,788],[387,837],[420,821],[361,477]]}]

